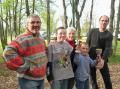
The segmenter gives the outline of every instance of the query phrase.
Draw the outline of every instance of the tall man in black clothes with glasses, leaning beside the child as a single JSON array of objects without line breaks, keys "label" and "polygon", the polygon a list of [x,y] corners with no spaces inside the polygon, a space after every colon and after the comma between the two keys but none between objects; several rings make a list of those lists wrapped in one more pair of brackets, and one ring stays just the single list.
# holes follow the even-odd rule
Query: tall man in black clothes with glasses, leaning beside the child
[{"label": "tall man in black clothes with glasses, leaning beside the child", "polygon": [[[104,59],[105,63],[104,67],[100,69],[100,73],[104,80],[105,88],[112,89],[112,83],[107,62],[112,48],[113,36],[108,30],[106,30],[108,23],[109,17],[106,15],[101,16],[99,19],[99,28],[90,30],[87,37],[87,43],[90,47],[89,55],[92,59],[95,59],[97,56],[96,49],[102,49],[101,57],[102,59]],[[96,68],[91,68],[91,79],[93,89],[99,89],[96,80]]]}]

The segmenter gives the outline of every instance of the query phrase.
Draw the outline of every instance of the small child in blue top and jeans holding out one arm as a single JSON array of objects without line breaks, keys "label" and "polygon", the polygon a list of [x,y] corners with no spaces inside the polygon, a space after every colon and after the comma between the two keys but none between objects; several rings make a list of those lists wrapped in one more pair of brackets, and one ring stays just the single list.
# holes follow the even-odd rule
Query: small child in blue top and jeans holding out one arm
[{"label": "small child in blue top and jeans holding out one arm", "polygon": [[75,72],[75,81],[77,89],[89,89],[90,66],[95,67],[100,62],[101,58],[92,60],[88,55],[88,44],[81,42],[80,52],[76,52],[74,63],[77,65]]}]

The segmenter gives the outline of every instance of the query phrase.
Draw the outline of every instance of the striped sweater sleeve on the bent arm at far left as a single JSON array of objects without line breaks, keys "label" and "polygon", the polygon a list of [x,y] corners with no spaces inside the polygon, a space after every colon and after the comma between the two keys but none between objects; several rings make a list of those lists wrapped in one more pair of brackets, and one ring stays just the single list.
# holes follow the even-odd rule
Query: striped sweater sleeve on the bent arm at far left
[{"label": "striped sweater sleeve on the bent arm at far left", "polygon": [[3,57],[8,69],[17,72],[25,72],[28,69],[28,62],[24,62],[22,58],[23,48],[16,42],[12,41],[6,46]]}]

